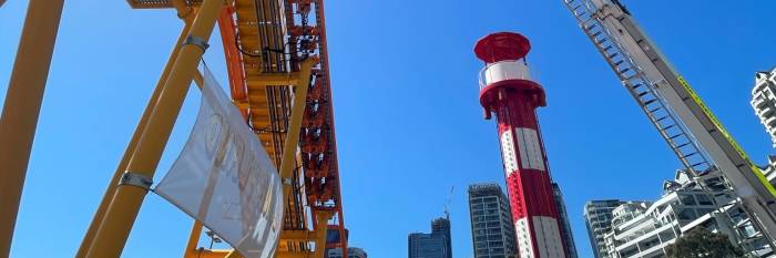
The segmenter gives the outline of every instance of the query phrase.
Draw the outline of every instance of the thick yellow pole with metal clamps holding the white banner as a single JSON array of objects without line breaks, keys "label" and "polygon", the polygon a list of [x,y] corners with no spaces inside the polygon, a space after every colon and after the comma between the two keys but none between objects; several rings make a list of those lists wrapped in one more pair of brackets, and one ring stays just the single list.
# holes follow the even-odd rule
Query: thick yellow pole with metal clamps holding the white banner
[{"label": "thick yellow pole with metal clamps holding the white banner", "polygon": [[156,106],[149,117],[137,147],[122,175],[125,184],[119,185],[105,210],[105,218],[86,252],[89,258],[120,257],[132,225],[153,178],[164,146],[170,138],[175,118],[181,111],[188,85],[205,52],[218,12],[224,0],[205,0],[192,23],[185,43],[181,45],[170,78],[161,90]]}]

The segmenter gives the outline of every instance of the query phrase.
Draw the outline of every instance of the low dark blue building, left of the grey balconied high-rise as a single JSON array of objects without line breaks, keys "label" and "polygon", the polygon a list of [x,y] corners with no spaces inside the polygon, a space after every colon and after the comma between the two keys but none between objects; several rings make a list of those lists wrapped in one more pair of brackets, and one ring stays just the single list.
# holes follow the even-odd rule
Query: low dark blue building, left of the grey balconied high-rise
[{"label": "low dark blue building, left of the grey balconied high-rise", "polygon": [[452,258],[450,219],[431,221],[431,233],[412,233],[408,237],[409,258]]}]

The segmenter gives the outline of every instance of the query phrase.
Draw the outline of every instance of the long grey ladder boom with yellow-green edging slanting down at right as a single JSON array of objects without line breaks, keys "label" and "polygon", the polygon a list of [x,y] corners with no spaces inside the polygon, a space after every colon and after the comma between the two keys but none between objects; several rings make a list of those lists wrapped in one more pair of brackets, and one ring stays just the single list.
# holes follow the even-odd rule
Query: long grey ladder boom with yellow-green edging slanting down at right
[{"label": "long grey ladder boom with yellow-green edging slanting down at right", "polygon": [[619,0],[563,0],[650,122],[693,174],[719,171],[774,246],[776,189]]}]

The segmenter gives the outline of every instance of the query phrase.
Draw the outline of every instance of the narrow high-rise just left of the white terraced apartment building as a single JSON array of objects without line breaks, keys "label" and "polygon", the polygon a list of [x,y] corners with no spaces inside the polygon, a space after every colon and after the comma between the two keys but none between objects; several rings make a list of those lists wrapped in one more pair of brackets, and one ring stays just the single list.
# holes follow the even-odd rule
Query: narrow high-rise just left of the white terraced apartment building
[{"label": "narrow high-rise just left of the white terraced apartment building", "polygon": [[612,229],[612,210],[621,204],[619,199],[590,200],[584,204],[584,224],[595,258],[611,258],[606,252],[604,236]]}]

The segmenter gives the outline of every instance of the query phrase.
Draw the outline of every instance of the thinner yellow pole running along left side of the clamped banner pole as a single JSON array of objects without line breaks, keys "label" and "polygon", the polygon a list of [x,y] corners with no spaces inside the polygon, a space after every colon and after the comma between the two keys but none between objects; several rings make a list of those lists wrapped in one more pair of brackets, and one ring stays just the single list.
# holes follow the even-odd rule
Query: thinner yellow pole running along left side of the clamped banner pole
[{"label": "thinner yellow pole running along left side of the clamped banner pole", "polygon": [[156,107],[156,101],[159,99],[160,93],[162,92],[162,86],[167,81],[170,70],[172,69],[175,59],[177,58],[180,45],[183,44],[184,40],[186,39],[186,35],[188,34],[188,29],[191,28],[192,19],[190,19],[191,16],[184,17],[183,13],[187,16],[188,13],[191,13],[191,11],[184,12],[184,10],[178,10],[178,17],[181,17],[185,22],[183,30],[181,31],[181,35],[177,38],[177,43],[173,48],[173,51],[170,54],[170,58],[167,59],[167,64],[164,65],[162,76],[160,76],[160,80],[156,82],[156,87],[151,94],[151,99],[149,100],[149,103],[146,104],[145,110],[143,111],[143,115],[140,117],[140,122],[135,127],[135,132],[132,134],[130,144],[126,145],[124,155],[122,156],[121,162],[119,162],[119,166],[113,173],[111,182],[108,184],[108,189],[105,189],[105,194],[103,195],[102,200],[100,202],[100,206],[98,206],[98,210],[94,213],[92,223],[89,225],[89,229],[86,229],[86,235],[83,237],[81,246],[79,247],[78,252],[75,254],[75,257],[78,258],[85,257],[89,247],[92,245],[94,234],[96,234],[100,224],[102,224],[102,220],[105,216],[105,209],[108,209],[108,205],[110,204],[111,198],[113,197],[113,194],[115,193],[115,189],[119,186],[119,179],[121,178],[121,175],[124,174],[124,171],[126,171],[126,165],[127,163],[130,163],[130,158],[132,158],[132,155],[135,152],[135,147],[137,146],[137,141],[140,140],[140,136],[143,135],[143,132],[149,121],[149,116],[151,116],[151,112]]}]

